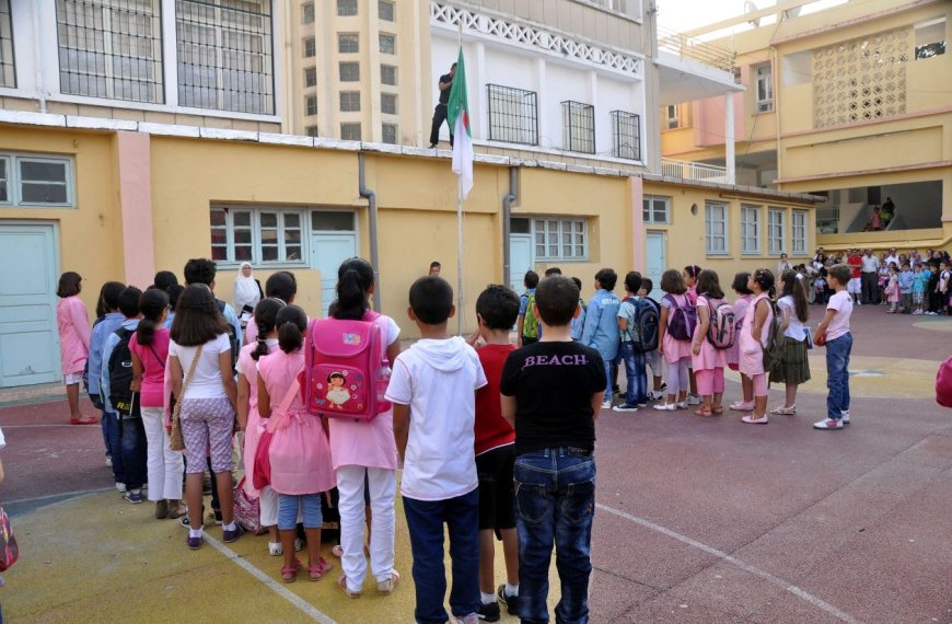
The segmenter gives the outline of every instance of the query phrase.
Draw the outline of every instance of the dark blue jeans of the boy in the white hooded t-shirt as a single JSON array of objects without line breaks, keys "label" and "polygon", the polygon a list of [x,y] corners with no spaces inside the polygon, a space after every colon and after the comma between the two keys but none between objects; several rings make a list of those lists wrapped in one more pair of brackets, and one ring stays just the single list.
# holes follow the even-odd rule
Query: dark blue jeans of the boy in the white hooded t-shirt
[{"label": "dark blue jeans of the boy in the white hooded t-shirt", "polygon": [[450,619],[443,609],[446,594],[444,522],[450,531],[450,558],[453,562],[450,609],[460,619],[476,613],[479,605],[479,490],[445,500],[417,500],[404,496],[404,512],[414,554],[417,590],[414,615],[417,622],[443,624]]}]

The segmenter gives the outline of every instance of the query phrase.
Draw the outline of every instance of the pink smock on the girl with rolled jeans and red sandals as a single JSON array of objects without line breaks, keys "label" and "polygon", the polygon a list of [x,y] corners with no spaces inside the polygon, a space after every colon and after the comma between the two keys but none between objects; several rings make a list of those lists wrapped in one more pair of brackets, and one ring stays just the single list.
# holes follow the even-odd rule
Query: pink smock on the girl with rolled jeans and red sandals
[{"label": "pink smock on the girl with rolled jeans and red sandals", "polygon": [[286,354],[276,349],[258,360],[258,374],[271,398],[271,418],[279,417],[278,407],[291,384],[298,386],[287,418],[271,438],[271,487],[278,494],[318,494],[337,485],[321,418],[307,414],[301,398],[299,375],[303,370],[304,354],[300,350]]}]

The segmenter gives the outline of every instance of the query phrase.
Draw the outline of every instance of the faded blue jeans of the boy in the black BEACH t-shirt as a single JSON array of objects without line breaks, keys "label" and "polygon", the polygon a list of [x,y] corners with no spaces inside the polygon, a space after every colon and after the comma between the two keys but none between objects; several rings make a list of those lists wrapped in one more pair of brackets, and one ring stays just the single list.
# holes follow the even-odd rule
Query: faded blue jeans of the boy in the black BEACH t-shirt
[{"label": "faded blue jeans of the boy in the black BEACH t-shirt", "polygon": [[556,621],[589,621],[595,458],[561,448],[515,458],[515,525],[519,532],[519,616],[548,622],[548,569],[553,542],[562,597]]}]

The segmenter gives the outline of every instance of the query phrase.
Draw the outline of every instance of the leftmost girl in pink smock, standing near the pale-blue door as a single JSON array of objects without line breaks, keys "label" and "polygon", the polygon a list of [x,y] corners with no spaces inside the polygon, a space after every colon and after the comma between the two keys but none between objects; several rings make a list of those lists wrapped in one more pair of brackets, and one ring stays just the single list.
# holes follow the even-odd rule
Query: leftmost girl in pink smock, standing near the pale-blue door
[{"label": "leftmost girl in pink smock, standing near the pale-blue door", "polygon": [[90,355],[90,315],[79,298],[82,280],[78,273],[67,271],[59,277],[56,296],[56,326],[59,330],[59,355],[62,382],[69,400],[70,425],[95,425],[94,416],[85,416],[79,408],[79,384]]}]

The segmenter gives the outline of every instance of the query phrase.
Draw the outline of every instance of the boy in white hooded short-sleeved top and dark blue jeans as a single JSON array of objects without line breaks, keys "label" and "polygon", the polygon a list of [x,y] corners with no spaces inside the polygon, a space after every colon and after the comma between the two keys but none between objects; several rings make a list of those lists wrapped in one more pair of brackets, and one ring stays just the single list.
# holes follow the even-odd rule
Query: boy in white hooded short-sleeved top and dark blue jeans
[{"label": "boy in white hooded short-sleeved top and dark blue jeans", "polygon": [[397,356],[386,391],[404,465],[400,493],[414,554],[416,621],[443,624],[446,570],[443,524],[450,532],[453,588],[450,608],[465,624],[478,622],[479,485],[476,475],[476,391],[486,375],[476,351],[450,336],[453,288],[437,276],[410,287],[407,314],[420,340]]}]

